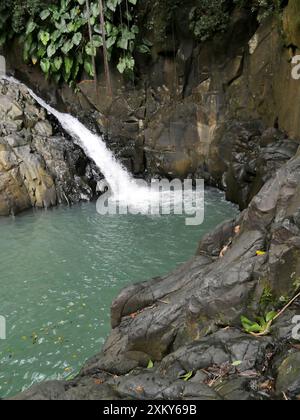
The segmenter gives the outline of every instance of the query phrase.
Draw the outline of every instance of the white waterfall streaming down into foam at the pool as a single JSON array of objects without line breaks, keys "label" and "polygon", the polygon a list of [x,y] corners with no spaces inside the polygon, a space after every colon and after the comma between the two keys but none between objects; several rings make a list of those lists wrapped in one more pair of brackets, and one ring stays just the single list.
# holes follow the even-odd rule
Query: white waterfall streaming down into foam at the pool
[{"label": "white waterfall streaming down into foam at the pool", "polygon": [[[78,144],[98,166],[104,175],[106,182],[110,186],[112,200],[120,207],[128,207],[134,214],[161,214],[161,209],[165,208],[166,213],[174,211],[184,211],[194,214],[197,210],[204,213],[203,195],[197,197],[193,188],[185,188],[184,193],[181,185],[174,193],[167,185],[166,189],[152,189],[145,183],[137,182],[127,170],[116,160],[113,153],[106,147],[103,139],[88,130],[77,118],[70,114],[57,111],[48,105],[43,99],[37,96],[31,89],[12,77],[3,77],[5,80],[18,84],[25,88],[32,98],[50,114],[52,114],[61,124],[62,128],[71,135]],[[186,187],[186,186],[185,186]],[[154,209],[155,213],[153,213]]]}]

